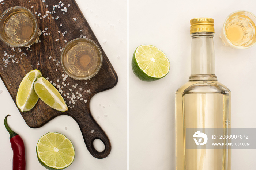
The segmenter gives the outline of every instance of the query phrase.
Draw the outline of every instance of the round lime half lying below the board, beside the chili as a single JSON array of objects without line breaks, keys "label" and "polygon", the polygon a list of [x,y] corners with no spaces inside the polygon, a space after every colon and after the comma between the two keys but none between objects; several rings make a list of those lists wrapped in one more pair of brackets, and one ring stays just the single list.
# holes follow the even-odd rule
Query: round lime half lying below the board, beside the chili
[{"label": "round lime half lying below the board, beside the chili", "polygon": [[74,146],[63,134],[49,132],[37,143],[37,159],[46,169],[64,169],[74,158]]}]

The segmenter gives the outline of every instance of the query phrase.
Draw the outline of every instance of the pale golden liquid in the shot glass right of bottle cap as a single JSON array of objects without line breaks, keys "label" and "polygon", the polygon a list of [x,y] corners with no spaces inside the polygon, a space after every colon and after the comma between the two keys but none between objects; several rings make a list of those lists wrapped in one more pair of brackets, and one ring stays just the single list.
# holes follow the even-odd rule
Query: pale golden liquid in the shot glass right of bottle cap
[{"label": "pale golden liquid in the shot glass right of bottle cap", "polygon": [[248,16],[235,13],[227,20],[224,29],[227,39],[235,46],[246,47],[256,41],[256,27]]}]

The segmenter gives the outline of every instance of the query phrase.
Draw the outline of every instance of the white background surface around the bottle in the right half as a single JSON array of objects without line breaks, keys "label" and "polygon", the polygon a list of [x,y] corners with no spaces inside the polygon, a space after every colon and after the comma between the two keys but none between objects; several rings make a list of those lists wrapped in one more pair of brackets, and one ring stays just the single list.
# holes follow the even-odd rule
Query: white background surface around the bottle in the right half
[{"label": "white background surface around the bottle in the right half", "polygon": [[[232,127],[256,128],[256,46],[246,50],[223,46],[219,34],[226,17],[237,10],[256,14],[252,0],[129,0],[129,169],[175,169],[175,91],[190,76],[190,19],[215,20],[215,70],[231,90]],[[132,72],[136,47],[150,44],[170,60],[170,72],[143,82]],[[232,170],[256,167],[256,150],[232,151]]]}]

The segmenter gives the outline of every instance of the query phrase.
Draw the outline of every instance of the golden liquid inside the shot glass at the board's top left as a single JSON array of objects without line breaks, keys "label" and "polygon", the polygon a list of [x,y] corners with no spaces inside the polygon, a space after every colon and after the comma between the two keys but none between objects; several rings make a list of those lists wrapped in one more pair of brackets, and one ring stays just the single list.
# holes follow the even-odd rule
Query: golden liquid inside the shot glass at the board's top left
[{"label": "golden liquid inside the shot glass at the board's top left", "polygon": [[24,44],[31,39],[35,23],[25,12],[14,12],[5,20],[4,31],[13,45]]}]

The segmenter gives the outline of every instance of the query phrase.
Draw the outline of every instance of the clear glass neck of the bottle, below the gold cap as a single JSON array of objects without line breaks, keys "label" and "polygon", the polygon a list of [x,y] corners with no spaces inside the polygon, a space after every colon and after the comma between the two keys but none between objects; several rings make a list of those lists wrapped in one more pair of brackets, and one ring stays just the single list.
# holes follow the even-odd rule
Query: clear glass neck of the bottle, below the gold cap
[{"label": "clear glass neck of the bottle, below the gold cap", "polygon": [[191,76],[189,81],[213,80],[215,76],[214,33],[200,32],[191,34]]}]

